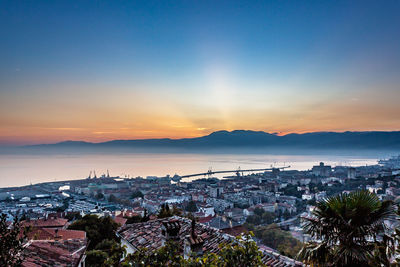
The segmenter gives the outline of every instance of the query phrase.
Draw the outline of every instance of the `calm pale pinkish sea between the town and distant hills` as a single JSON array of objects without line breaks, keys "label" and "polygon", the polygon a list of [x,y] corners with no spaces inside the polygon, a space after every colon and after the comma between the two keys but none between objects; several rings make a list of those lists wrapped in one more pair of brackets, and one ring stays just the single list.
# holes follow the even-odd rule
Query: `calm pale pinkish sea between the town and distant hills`
[{"label": "calm pale pinkish sea between the town and distant hills", "polygon": [[[111,176],[186,175],[212,170],[269,168],[290,165],[290,169],[307,170],[324,161],[337,165],[372,165],[377,159],[389,156],[377,154],[0,154],[0,187],[22,186],[30,183],[83,179],[95,170],[97,177],[109,170]],[[234,173],[232,174],[234,175]],[[223,175],[216,176],[223,177]],[[202,178],[202,177],[197,177]],[[193,178],[196,179],[196,178]]]}]

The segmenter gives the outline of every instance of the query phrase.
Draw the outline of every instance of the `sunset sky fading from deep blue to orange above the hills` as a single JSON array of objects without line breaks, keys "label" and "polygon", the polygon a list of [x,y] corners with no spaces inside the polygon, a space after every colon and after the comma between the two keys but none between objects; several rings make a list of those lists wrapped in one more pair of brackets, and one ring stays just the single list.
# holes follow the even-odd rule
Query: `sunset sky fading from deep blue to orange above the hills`
[{"label": "sunset sky fading from deep blue to orange above the hills", "polygon": [[0,144],[400,130],[400,1],[0,1]]}]

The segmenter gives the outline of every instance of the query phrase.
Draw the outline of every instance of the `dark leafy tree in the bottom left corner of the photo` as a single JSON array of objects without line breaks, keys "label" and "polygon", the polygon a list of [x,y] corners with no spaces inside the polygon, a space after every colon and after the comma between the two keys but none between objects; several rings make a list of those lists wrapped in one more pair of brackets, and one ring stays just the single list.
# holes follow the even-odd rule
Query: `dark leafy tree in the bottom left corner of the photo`
[{"label": "dark leafy tree in the bottom left corner of the photo", "polygon": [[[21,229],[20,220],[14,219],[11,227],[7,215],[0,215],[0,266],[20,266],[23,260],[23,241],[28,229]],[[22,233],[22,235],[21,235]]]}]

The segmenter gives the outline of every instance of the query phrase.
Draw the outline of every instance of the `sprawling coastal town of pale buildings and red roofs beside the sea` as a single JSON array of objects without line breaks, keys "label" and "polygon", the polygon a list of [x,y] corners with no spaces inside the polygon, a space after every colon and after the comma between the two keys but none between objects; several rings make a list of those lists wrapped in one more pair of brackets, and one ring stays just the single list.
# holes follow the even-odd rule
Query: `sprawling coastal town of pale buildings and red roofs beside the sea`
[{"label": "sprawling coastal town of pale buildings and red roofs beside the sea", "polygon": [[[271,266],[302,266],[293,259],[301,244],[311,239],[303,231],[302,218],[311,216],[318,201],[356,190],[373,192],[380,200],[400,196],[400,164],[396,158],[358,167],[331,167],[321,162],[307,171],[238,171],[220,179],[211,174],[209,171],[205,177],[186,181],[177,175],[120,178],[107,172],[82,180],[3,188],[0,211],[9,223],[20,218],[23,225],[34,228],[28,234],[25,251],[34,255],[27,261],[36,263],[58,258],[57,253],[62,251],[59,247],[63,247],[79,251],[65,261],[71,261],[71,266],[84,266],[86,234],[67,228],[85,215],[96,215],[118,224],[116,234],[127,252],[134,252],[138,244],[148,249],[164,244],[157,231],[165,223],[166,229],[171,227],[160,218],[170,218],[174,227],[178,227],[173,223],[178,220],[177,225],[189,232],[192,218],[196,229],[202,229],[198,231],[204,234],[202,242],[210,251],[218,247],[219,239],[251,230],[266,261],[276,261],[277,265]],[[178,232],[182,232],[180,228]],[[279,234],[282,237],[277,237]],[[39,245],[42,239],[47,246]]]}]

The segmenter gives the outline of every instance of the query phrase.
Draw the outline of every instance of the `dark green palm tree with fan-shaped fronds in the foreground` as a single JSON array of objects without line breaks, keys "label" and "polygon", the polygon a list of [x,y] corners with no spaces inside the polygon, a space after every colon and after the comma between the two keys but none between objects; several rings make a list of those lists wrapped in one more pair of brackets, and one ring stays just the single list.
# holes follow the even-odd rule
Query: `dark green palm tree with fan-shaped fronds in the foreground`
[{"label": "dark green palm tree with fan-shaped fronds in the foreground", "polygon": [[305,233],[314,241],[298,257],[312,266],[384,266],[390,253],[382,247],[391,240],[384,221],[394,219],[394,211],[393,202],[381,202],[369,191],[324,199],[304,218]]}]

